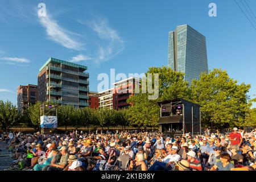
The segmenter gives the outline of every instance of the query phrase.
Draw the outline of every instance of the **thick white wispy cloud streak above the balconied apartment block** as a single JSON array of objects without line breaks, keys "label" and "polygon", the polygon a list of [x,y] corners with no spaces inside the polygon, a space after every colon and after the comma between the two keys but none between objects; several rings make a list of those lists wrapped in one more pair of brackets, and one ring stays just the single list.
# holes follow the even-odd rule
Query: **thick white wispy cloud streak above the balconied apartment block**
[{"label": "thick white wispy cloud streak above the balconied apartment block", "polygon": [[61,28],[54,19],[51,19],[48,12],[46,16],[39,16],[39,22],[44,28],[46,28],[49,39],[69,49],[74,49],[77,51],[82,49],[82,44],[76,42],[76,40],[70,36],[76,34]]}]

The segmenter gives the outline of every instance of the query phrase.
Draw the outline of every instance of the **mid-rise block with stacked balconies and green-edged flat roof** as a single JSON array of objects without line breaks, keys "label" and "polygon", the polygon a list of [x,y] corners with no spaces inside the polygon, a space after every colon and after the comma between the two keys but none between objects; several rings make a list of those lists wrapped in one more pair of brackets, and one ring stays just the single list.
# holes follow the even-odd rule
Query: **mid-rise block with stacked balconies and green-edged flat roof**
[{"label": "mid-rise block with stacked balconies and green-edged flat roof", "polygon": [[89,106],[87,67],[50,57],[38,74],[39,101],[75,107]]}]

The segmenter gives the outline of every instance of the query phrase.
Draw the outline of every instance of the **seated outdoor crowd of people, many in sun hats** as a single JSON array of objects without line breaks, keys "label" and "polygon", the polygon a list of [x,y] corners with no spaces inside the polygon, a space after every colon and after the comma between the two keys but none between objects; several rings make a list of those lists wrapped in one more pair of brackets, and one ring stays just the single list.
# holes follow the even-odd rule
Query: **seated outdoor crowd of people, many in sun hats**
[{"label": "seated outdoor crowd of people, many in sun hats", "polygon": [[7,170],[28,171],[254,171],[256,130],[180,134],[156,131],[115,133],[1,133],[13,152]]}]

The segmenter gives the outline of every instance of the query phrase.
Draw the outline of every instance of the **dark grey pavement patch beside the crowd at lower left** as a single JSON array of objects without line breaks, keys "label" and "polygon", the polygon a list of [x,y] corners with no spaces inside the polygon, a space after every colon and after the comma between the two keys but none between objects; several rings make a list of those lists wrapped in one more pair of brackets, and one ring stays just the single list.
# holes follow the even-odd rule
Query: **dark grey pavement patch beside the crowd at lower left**
[{"label": "dark grey pavement patch beside the crowd at lower left", "polygon": [[7,144],[0,141],[0,171],[9,168],[13,159],[11,159],[11,153],[6,149]]}]

